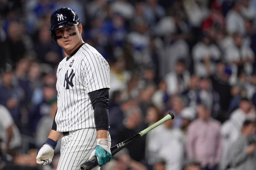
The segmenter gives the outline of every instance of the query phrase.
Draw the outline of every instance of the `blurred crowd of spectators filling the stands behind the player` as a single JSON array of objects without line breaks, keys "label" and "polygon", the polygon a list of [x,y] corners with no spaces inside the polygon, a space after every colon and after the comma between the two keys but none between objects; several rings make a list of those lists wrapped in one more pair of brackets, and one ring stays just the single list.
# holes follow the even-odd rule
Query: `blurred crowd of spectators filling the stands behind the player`
[{"label": "blurred crowd of spectators filling the stands behind the player", "polygon": [[65,57],[50,15],[71,7],[110,65],[112,146],[173,112],[103,170],[256,169],[256,0],[0,0],[0,169],[36,165]]}]

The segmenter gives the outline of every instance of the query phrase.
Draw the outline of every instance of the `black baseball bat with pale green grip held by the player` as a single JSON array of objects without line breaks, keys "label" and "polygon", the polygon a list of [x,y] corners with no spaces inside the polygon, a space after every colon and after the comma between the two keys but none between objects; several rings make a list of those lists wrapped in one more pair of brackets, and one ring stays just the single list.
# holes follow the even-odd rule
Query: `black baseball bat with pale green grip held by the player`
[{"label": "black baseball bat with pale green grip held by the player", "polygon": [[[141,132],[137,133],[136,135],[134,135],[133,137],[130,137],[129,139],[116,144],[115,146],[110,148],[111,151],[111,155],[113,156],[114,154],[116,154],[117,152],[119,152],[121,149],[123,149],[124,147],[126,147],[128,144],[130,144],[131,142],[135,141],[136,139],[142,137],[143,135],[147,134],[150,130],[156,128],[157,126],[161,125],[162,123],[174,119],[174,115],[172,112],[169,112],[166,116],[164,116],[164,118],[162,118],[161,120],[157,121],[156,123],[152,124],[151,126],[149,126],[148,128],[142,130]],[[92,168],[95,168],[98,165],[98,160],[97,157],[94,156],[93,158],[89,159],[88,161],[85,161],[84,163],[82,163],[80,165],[81,170],[91,170]]]}]

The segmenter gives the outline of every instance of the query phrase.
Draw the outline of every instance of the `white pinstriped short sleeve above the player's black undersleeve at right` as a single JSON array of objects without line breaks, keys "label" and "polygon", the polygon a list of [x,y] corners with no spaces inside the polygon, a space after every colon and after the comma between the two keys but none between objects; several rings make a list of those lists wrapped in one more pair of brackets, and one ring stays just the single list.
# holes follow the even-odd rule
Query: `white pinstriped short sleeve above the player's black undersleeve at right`
[{"label": "white pinstriped short sleeve above the player's black undersleeve at right", "polygon": [[81,75],[87,93],[110,88],[109,63],[99,53],[85,56],[81,62]]}]

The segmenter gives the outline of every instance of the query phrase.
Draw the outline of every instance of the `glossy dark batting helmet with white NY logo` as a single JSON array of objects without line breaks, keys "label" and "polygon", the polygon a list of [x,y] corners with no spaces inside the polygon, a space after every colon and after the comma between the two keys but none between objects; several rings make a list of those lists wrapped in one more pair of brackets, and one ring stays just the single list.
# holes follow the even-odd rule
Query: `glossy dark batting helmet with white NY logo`
[{"label": "glossy dark batting helmet with white NY logo", "polygon": [[63,7],[63,8],[56,9],[52,13],[50,22],[51,22],[51,28],[50,28],[51,36],[52,36],[52,39],[56,42],[57,37],[53,30],[57,28],[76,26],[77,24],[80,23],[80,20],[78,18],[78,15],[76,14],[76,12],[74,12],[73,9],[68,7]]}]

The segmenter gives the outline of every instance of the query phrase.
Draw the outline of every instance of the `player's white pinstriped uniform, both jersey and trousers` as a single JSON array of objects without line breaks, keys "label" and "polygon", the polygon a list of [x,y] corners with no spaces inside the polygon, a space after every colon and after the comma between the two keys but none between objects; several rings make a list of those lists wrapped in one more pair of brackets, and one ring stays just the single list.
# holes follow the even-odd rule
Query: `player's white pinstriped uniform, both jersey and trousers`
[{"label": "player's white pinstriped uniform, both jersey and trousers", "polygon": [[89,44],[83,44],[71,58],[59,63],[55,122],[58,132],[72,133],[62,137],[58,170],[79,170],[95,149],[97,132],[88,93],[110,88],[109,82],[109,64]]}]

